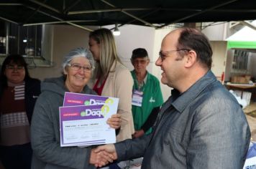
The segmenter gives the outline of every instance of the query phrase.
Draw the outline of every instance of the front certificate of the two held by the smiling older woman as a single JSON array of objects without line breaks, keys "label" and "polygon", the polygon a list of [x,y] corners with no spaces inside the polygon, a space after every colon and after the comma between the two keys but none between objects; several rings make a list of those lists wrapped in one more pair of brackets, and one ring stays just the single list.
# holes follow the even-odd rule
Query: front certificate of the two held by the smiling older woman
[{"label": "front certificate of the two held by the smiling older woman", "polygon": [[114,105],[60,107],[60,147],[116,143],[115,130],[106,124]]}]

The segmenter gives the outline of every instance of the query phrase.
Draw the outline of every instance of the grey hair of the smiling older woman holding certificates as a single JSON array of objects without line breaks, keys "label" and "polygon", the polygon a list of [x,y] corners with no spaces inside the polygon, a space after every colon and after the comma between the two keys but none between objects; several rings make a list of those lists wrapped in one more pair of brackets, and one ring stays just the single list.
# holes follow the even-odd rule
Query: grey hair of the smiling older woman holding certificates
[{"label": "grey hair of the smiling older woman holding certificates", "polygon": [[88,49],[84,49],[83,47],[78,47],[76,49],[72,49],[70,52],[68,52],[67,55],[65,55],[63,59],[63,69],[67,66],[67,64],[70,63],[70,61],[76,57],[85,57],[89,60],[91,67],[94,67],[94,59],[93,54]]}]

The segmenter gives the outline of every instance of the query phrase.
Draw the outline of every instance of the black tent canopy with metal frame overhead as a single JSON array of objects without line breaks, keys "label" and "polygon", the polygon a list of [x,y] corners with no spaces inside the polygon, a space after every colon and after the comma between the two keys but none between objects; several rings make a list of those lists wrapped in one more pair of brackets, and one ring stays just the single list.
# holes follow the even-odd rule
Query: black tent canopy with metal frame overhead
[{"label": "black tent canopy with metal frame overhead", "polygon": [[256,19],[256,0],[1,0],[0,19],[28,26],[137,24]]}]

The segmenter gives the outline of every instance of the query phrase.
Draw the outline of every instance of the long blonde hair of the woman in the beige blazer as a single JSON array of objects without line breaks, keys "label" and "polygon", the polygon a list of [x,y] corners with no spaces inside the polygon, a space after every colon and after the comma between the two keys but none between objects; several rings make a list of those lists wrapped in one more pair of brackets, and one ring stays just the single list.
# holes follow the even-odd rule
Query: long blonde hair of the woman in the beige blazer
[{"label": "long blonde hair of the woman in the beige blazer", "polygon": [[97,44],[100,44],[99,65],[96,65],[95,75],[98,78],[106,78],[109,72],[111,72],[111,66],[114,62],[122,63],[117,56],[114,36],[109,29],[101,28],[91,32],[89,38],[92,38]]}]

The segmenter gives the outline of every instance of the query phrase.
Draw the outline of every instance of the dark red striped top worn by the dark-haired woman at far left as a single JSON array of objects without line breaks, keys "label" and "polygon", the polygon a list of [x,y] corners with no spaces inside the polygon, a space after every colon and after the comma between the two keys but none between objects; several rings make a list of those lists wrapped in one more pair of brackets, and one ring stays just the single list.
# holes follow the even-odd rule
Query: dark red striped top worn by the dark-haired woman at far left
[{"label": "dark red striped top worn by the dark-haired woman at far left", "polygon": [[24,92],[24,83],[4,90],[0,100],[1,145],[22,145],[30,142]]}]

